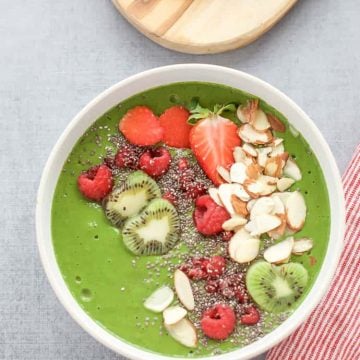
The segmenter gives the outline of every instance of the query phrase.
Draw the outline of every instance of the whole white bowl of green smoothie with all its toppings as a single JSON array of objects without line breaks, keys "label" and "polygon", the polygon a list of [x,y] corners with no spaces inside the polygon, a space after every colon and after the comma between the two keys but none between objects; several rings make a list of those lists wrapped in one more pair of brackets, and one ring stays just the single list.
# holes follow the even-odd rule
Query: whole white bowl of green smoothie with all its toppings
[{"label": "whole white bowl of green smoothie with all its toppings", "polygon": [[118,83],[46,164],[37,236],[50,283],[133,359],[248,359],[324,295],[342,248],[323,137],[270,85],[212,65]]}]

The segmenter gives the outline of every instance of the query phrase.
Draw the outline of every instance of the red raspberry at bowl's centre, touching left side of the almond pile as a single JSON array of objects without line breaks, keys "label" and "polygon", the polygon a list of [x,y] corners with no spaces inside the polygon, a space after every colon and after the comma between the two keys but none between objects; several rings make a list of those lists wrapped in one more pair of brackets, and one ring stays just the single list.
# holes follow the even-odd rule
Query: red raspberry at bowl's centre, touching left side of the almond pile
[{"label": "red raspberry at bowl's centre, touching left side of the almond pile", "polygon": [[230,219],[230,215],[209,195],[203,195],[196,199],[193,218],[201,234],[215,235],[223,231],[222,224]]}]

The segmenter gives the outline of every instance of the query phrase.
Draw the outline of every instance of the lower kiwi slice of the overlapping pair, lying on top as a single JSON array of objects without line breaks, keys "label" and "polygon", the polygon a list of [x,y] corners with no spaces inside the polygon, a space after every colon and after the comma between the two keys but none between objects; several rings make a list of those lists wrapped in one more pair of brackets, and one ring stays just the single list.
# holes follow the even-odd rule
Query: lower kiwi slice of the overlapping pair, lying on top
[{"label": "lower kiwi slice of the overlapping pair, lying on top", "polygon": [[167,253],[179,239],[180,221],[174,206],[155,199],[137,216],[128,219],[122,231],[126,247],[136,255]]}]

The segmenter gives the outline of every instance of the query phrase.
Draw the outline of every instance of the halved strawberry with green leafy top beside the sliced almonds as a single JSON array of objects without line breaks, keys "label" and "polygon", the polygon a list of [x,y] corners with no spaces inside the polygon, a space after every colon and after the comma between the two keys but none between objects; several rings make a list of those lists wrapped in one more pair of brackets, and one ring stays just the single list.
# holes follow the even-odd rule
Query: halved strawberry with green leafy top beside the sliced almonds
[{"label": "halved strawberry with green leafy top beside the sliced almonds", "polygon": [[241,145],[237,126],[220,116],[222,111],[228,109],[233,110],[233,107],[216,107],[214,112],[210,112],[198,106],[189,118],[190,122],[201,118],[191,129],[190,145],[198,163],[215,185],[223,183],[217,167],[229,168],[234,163],[234,148]]}]

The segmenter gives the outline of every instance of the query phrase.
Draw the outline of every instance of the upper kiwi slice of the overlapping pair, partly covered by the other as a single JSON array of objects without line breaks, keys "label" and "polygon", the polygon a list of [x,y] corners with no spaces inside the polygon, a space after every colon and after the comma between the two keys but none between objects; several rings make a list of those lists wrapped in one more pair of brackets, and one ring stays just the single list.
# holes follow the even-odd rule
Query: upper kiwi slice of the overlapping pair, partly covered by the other
[{"label": "upper kiwi slice of the overlapping pair, partly covered by the other", "polygon": [[109,194],[103,206],[107,218],[114,225],[122,226],[127,218],[138,214],[149,201],[160,196],[156,182],[143,171],[135,171]]}]

